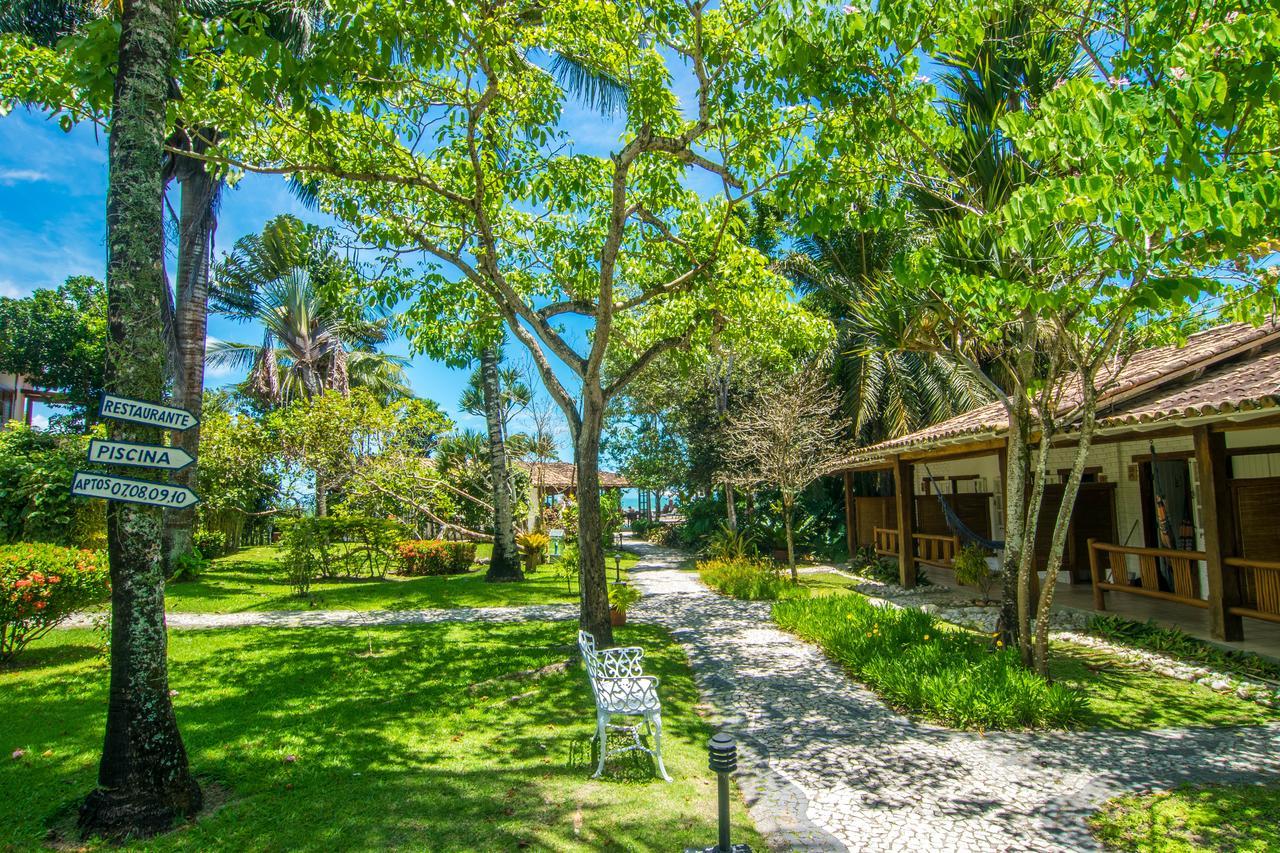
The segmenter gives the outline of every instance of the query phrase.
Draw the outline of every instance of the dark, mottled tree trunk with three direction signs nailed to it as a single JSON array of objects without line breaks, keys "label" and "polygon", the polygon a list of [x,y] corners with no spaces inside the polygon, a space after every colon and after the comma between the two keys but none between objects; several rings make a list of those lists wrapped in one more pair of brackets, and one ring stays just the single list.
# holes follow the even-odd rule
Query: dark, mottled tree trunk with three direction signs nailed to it
[{"label": "dark, mottled tree trunk with three direction signs nailed to it", "polygon": [[[165,386],[161,161],[177,20],[178,0],[125,0],[108,154],[106,388],[155,401]],[[160,439],[157,429],[124,423],[110,434]],[[201,806],[169,698],[161,516],[108,505],[111,675],[99,786],[79,809],[86,835],[151,835]]]}]

